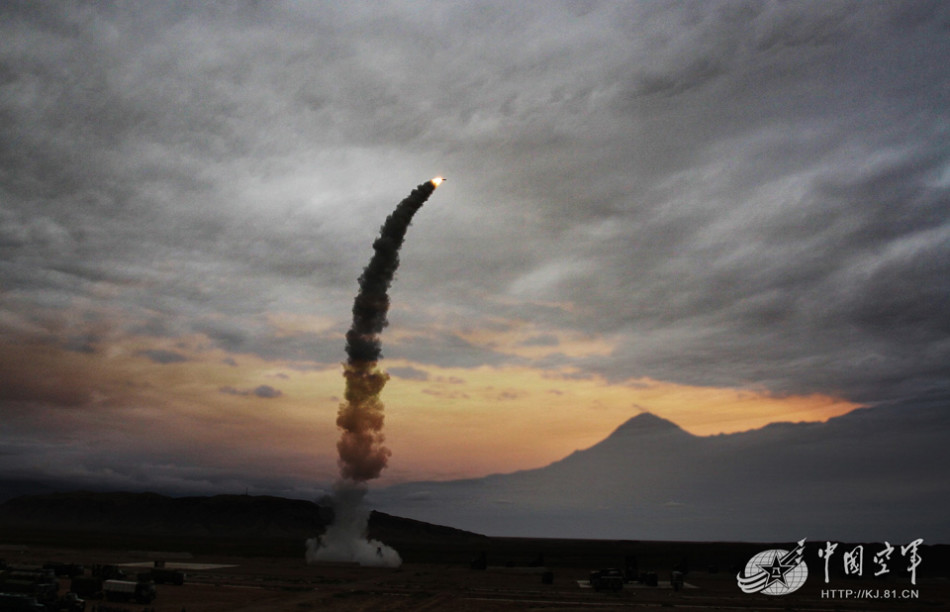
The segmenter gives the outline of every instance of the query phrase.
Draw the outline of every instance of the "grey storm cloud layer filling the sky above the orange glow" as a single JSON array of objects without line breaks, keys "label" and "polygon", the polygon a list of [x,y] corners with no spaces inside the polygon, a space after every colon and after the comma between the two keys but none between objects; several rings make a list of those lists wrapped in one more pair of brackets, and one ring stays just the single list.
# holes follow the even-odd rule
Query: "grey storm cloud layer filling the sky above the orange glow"
[{"label": "grey storm cloud layer filling the sky above the orange glow", "polygon": [[[950,391],[943,3],[0,10],[6,310],[105,304],[125,331],[338,362],[357,228],[444,172],[401,325],[598,334],[615,354],[556,361],[612,380]],[[273,310],[340,331],[287,338]]]}]

